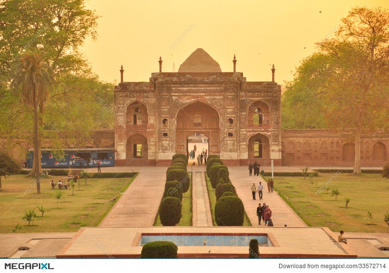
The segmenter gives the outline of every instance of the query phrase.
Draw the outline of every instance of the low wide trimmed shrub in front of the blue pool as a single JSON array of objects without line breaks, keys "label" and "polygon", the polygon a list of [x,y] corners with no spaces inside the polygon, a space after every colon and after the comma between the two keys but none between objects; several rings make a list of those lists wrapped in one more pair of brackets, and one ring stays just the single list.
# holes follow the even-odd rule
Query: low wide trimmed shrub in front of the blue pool
[{"label": "low wide trimmed shrub in front of the blue pool", "polygon": [[178,247],[173,242],[154,241],[145,243],[142,247],[141,258],[177,258]]}]

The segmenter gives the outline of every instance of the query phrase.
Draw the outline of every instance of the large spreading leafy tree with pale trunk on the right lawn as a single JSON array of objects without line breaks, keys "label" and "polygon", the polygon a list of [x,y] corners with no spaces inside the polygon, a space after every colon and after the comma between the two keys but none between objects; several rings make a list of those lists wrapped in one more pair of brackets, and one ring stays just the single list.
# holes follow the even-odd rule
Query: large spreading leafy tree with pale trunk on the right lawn
[{"label": "large spreading leafy tree with pale trunk on the right lawn", "polygon": [[389,126],[389,12],[355,7],[336,37],[317,45],[287,84],[285,125],[346,130],[354,142],[354,173],[360,174],[362,131]]}]

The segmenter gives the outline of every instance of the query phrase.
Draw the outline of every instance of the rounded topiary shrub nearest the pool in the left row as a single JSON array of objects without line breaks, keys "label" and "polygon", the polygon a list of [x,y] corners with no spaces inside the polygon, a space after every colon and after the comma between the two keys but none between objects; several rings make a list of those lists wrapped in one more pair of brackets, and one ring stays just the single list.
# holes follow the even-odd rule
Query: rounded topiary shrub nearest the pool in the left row
[{"label": "rounded topiary shrub nearest the pool in the left row", "polygon": [[163,226],[175,226],[181,219],[181,201],[176,197],[165,197],[159,205],[158,214]]}]

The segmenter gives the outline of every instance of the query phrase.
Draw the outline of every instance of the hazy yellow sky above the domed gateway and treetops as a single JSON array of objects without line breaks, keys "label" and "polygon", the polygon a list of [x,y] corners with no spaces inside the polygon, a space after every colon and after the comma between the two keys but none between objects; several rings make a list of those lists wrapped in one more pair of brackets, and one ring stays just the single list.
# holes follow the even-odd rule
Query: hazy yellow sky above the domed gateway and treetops
[{"label": "hazy yellow sky above the domed gateway and treetops", "polygon": [[[101,80],[148,81],[151,73],[177,72],[180,64],[203,48],[223,72],[236,70],[247,81],[293,78],[300,61],[316,50],[315,43],[332,37],[352,7],[381,6],[388,0],[89,0],[101,16],[96,41],[84,53]],[[321,13],[320,13],[321,11]]]}]

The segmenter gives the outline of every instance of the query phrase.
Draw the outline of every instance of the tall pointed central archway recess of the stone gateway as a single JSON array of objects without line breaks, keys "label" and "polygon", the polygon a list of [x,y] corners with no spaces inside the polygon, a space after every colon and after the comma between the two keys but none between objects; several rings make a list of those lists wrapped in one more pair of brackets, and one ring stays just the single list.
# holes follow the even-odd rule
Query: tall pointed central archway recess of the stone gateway
[{"label": "tall pointed central archway recess of the stone gateway", "polygon": [[197,132],[201,132],[208,141],[208,155],[220,155],[219,114],[208,104],[199,101],[177,112],[176,152],[189,156],[193,147],[188,147],[188,139]]}]

